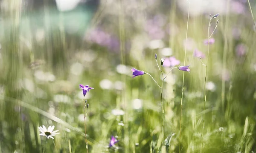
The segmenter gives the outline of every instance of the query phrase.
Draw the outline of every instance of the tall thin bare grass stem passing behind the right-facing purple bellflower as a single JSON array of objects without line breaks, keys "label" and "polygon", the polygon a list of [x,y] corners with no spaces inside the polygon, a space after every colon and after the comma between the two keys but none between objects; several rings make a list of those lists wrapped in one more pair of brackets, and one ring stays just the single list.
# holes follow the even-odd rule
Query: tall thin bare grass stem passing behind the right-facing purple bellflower
[{"label": "tall thin bare grass stem passing behind the right-facing purple bellflower", "polygon": [[[190,11],[190,1],[189,1],[189,11]],[[188,20],[187,20],[187,27],[186,27],[186,45],[188,40],[188,29],[189,29],[189,11],[188,11]],[[186,45],[185,45],[185,54],[184,54],[184,65],[186,62]],[[183,79],[182,79],[182,92],[181,92],[181,100],[180,100],[180,144],[181,144],[181,114],[182,114],[182,102],[183,102],[183,91],[184,91],[184,77],[185,71],[183,71]],[[179,153],[180,153],[180,145],[179,145]]]}]

